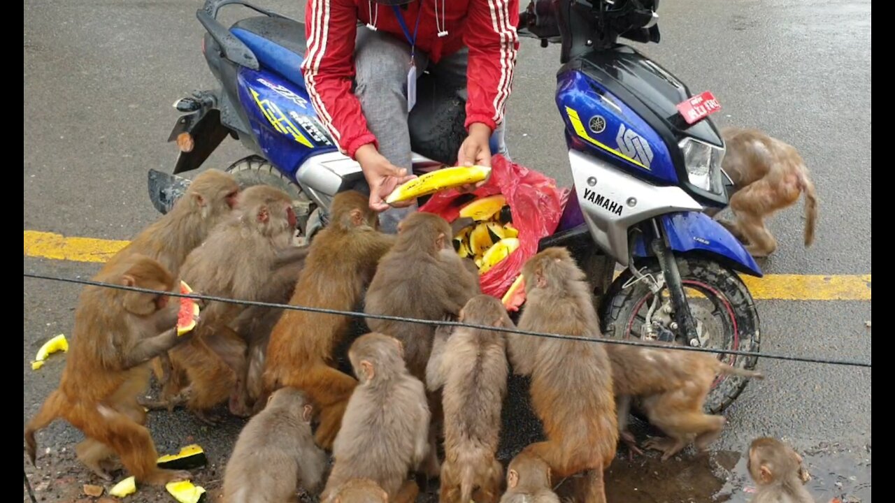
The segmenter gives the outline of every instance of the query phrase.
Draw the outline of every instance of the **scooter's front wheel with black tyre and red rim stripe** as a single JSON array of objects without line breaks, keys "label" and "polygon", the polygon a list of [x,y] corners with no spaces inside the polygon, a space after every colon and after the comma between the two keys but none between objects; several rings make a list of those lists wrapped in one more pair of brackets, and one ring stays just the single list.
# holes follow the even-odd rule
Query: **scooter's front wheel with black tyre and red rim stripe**
[{"label": "scooter's front wheel with black tyre and red rim stripe", "polygon": [[[703,327],[700,345],[706,348],[759,351],[759,319],[752,294],[735,272],[711,260],[701,257],[677,257],[678,270],[684,286],[687,303],[694,320]],[[662,270],[652,260],[638,267],[644,276],[659,278]],[[603,297],[601,302],[601,328],[605,337],[638,339],[644,330],[644,321],[652,304],[653,294],[645,281],[632,281],[633,274],[625,269]],[[633,283],[624,287],[628,283]],[[674,329],[669,320],[670,303],[668,286],[659,292],[660,302],[652,313],[652,321]],[[663,309],[664,308],[664,309]],[[757,356],[717,354],[722,362],[735,367],[754,369]],[[712,382],[712,390],[705,400],[707,413],[720,413],[737,399],[746,388],[748,379],[741,376],[720,375]]]}]

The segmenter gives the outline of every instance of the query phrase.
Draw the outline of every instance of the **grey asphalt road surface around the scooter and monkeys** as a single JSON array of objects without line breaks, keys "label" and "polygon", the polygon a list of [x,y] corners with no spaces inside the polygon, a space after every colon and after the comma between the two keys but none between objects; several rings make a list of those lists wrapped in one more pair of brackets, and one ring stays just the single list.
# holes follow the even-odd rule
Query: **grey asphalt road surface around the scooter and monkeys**
[{"label": "grey asphalt road surface around the scooter and monkeys", "polygon": [[[173,168],[176,149],[166,143],[177,117],[171,103],[212,85],[200,54],[200,4],[25,1],[26,230],[129,239],[158,217],[147,196],[146,171]],[[303,19],[303,2],[259,4]],[[231,21],[248,13],[227,10]],[[722,106],[715,115],[719,125],[770,132],[800,149],[812,170],[820,198],[814,246],[802,246],[799,202],[771,219],[780,248],[762,264],[764,271],[870,274],[869,0],[677,0],[662,3],[660,14],[661,44],[640,48],[694,92],[712,90]],[[518,58],[507,106],[509,149],[516,162],[567,184],[553,100],[558,47],[525,39]],[[226,140],[208,166],[224,168],[245,155],[237,142]],[[98,264],[26,258],[24,269],[89,277]],[[31,371],[29,361],[47,338],[71,334],[77,293],[68,284],[24,281],[26,420],[55,387],[63,366],[59,358]],[[764,301],[758,308],[763,351],[871,358],[869,302]],[[707,493],[700,490],[711,487],[745,501],[739,454],[754,437],[772,435],[809,453],[818,499],[850,494],[870,501],[870,371],[768,359],[759,367],[768,379],[751,383],[728,409],[728,428],[708,461],[684,456],[665,465],[632,465],[619,457],[609,475],[610,500],[702,501]],[[162,452],[193,440],[206,448],[218,467],[217,474],[207,473],[209,481],[220,478],[221,461],[240,425],[209,431],[185,413],[159,413],[150,421]],[[71,463],[72,443],[80,437],[64,422],[38,434],[41,468],[26,462],[26,469],[47,500],[71,500],[62,496],[64,487],[96,483]],[[734,475],[726,475],[728,470]],[[720,482],[707,484],[700,477]],[[648,498],[651,484],[662,488],[656,499]]]}]

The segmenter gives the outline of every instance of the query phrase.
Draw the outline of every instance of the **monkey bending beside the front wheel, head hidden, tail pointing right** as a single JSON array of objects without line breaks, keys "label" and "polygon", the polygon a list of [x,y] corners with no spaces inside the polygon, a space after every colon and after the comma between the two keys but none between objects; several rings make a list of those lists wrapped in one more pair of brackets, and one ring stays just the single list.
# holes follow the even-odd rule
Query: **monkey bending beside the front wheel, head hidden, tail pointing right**
[{"label": "monkey bending beside the front wheel, head hidden, tail pointing right", "polygon": [[641,454],[627,430],[633,396],[643,398],[649,421],[669,435],[667,439],[650,439],[644,444],[662,451],[665,461],[690,442],[696,449],[704,450],[720,435],[726,422],[724,416],[703,412],[705,397],[718,374],[764,379],[761,372],[732,367],[713,354],[631,345],[609,345],[606,351],[612,363],[619,436],[627,444],[630,456]]}]

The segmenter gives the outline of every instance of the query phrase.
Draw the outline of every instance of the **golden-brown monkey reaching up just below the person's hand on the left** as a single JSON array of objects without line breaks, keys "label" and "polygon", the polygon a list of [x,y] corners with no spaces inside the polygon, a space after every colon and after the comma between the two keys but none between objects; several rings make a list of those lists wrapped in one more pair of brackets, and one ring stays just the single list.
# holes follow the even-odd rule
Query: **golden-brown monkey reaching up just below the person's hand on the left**
[{"label": "golden-brown monkey reaching up just below the person's hand on the left", "polygon": [[[394,236],[379,232],[379,218],[360,192],[339,192],[331,224],[311,242],[291,305],[354,310],[362,300],[379,258]],[[286,311],[270,334],[263,382],[266,392],[282,386],[303,389],[320,424],[315,439],[332,448],[357,380],[333,365],[333,353],[351,319],[322,312]]]}]

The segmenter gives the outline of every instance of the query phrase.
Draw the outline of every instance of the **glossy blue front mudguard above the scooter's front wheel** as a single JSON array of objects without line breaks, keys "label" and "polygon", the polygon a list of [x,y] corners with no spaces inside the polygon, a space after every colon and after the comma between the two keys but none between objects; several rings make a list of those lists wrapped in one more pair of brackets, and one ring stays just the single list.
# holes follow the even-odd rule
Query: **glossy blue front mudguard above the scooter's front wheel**
[{"label": "glossy blue front mudguard above the scooter's front wheel", "polygon": [[[752,255],[746,252],[743,244],[704,213],[698,211],[671,213],[662,215],[660,220],[665,234],[669,237],[671,250],[679,253],[699,251],[720,255],[730,260],[734,269],[754,277],[763,277],[758,264]],[[646,252],[644,240],[638,239],[634,248],[635,257],[646,257],[650,254]]]}]

